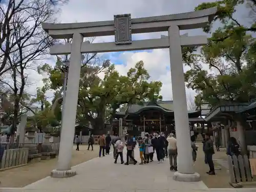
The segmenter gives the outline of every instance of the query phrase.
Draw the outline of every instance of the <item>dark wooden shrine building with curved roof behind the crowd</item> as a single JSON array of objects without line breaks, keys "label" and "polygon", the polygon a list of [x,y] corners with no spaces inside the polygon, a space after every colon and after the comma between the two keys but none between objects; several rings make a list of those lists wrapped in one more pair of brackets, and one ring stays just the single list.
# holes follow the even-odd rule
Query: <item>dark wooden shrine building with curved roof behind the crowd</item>
[{"label": "dark wooden shrine building with curved roof behind the crowd", "polygon": [[[195,131],[195,124],[204,124],[201,111],[187,111],[190,131]],[[173,101],[144,102],[132,104],[114,115],[112,134],[120,134],[122,123],[124,132],[140,135],[141,132],[164,132],[166,135],[175,132]]]}]

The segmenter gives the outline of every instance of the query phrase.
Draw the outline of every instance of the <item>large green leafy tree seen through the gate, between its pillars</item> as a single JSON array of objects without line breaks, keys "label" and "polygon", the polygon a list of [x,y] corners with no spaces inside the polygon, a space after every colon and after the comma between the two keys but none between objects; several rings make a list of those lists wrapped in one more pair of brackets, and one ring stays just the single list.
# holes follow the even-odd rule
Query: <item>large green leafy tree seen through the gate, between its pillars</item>
[{"label": "large green leafy tree seen through the gate, between its pillars", "polygon": [[[126,76],[119,75],[111,65],[103,79],[98,76],[90,76],[90,81],[82,79],[78,99],[80,119],[89,120],[96,129],[103,129],[105,120],[112,123],[113,114],[121,105],[161,99],[162,83],[148,82],[149,78],[143,61],[139,61]],[[108,112],[109,118],[106,118]]]}]

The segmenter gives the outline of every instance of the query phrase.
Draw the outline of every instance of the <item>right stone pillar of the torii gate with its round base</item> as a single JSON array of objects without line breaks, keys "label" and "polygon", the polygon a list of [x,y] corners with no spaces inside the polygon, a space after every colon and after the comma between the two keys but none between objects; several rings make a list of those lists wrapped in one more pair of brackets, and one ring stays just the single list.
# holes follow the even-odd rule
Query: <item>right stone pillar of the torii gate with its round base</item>
[{"label": "right stone pillar of the torii gate with its round base", "polygon": [[176,126],[177,150],[179,154],[178,172],[174,179],[178,181],[199,181],[200,175],[194,172],[192,148],[190,142],[187,114],[187,99],[185,91],[180,30],[178,26],[168,28],[170,73],[174,100],[174,118]]}]

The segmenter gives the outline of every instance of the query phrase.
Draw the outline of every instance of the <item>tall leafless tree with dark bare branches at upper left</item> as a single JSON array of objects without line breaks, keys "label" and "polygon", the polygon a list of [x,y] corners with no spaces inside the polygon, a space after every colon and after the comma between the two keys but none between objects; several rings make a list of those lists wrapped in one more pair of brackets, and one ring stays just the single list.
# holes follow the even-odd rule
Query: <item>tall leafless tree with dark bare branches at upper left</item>
[{"label": "tall leafless tree with dark bare branches at upper left", "polygon": [[[1,1],[1,0],[0,0]],[[3,81],[12,90],[14,133],[24,102],[28,82],[26,70],[48,56],[54,40],[41,28],[42,23],[54,22],[56,5],[67,0],[9,0],[0,4],[0,76],[8,72],[10,81]],[[31,111],[31,110],[29,110]]]}]

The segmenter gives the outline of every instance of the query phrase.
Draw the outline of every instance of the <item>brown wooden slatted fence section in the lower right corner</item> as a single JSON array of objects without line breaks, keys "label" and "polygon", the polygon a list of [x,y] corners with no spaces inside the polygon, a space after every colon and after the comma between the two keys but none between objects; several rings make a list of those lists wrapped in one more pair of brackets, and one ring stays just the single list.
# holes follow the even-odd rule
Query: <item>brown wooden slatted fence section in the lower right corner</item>
[{"label": "brown wooden slatted fence section in the lower right corner", "polygon": [[233,187],[242,187],[243,182],[251,182],[251,167],[247,155],[228,155],[230,184]]}]

